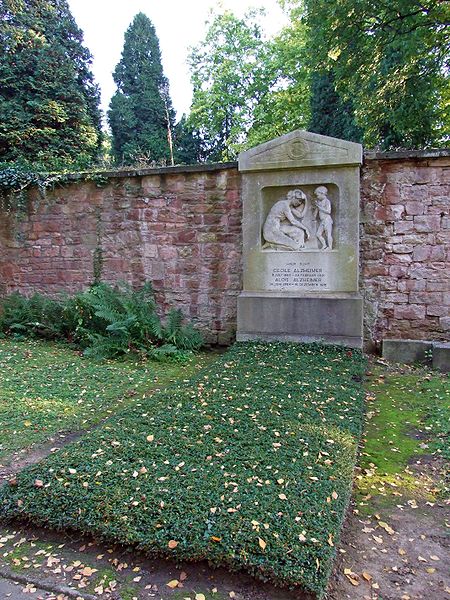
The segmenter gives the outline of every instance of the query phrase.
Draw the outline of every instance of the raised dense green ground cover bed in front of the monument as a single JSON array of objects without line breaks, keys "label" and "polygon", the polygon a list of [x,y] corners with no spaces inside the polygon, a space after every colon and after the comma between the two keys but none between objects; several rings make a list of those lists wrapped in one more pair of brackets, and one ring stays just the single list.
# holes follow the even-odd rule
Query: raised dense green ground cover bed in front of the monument
[{"label": "raised dense green ground cover bed in front of the monument", "polygon": [[2,512],[320,597],[351,493],[364,369],[344,348],[236,344],[22,471]]}]

